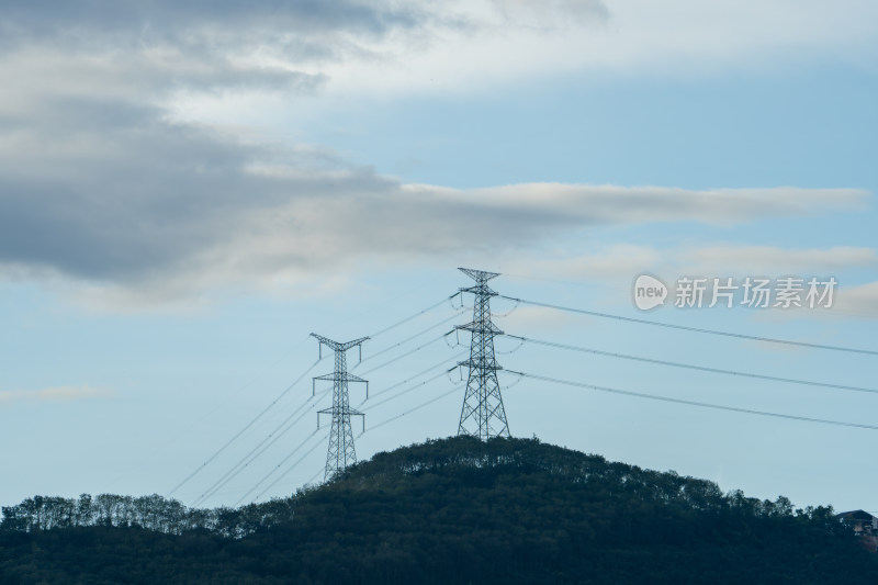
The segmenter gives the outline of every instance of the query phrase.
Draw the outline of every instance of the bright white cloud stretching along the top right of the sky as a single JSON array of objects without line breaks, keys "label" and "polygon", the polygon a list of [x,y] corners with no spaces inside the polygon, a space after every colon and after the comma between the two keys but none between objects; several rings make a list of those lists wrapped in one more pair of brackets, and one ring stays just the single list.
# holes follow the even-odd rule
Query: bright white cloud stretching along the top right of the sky
[{"label": "bright white cloud stretching along the top right of the sky", "polygon": [[868,0],[468,0],[446,7],[469,25],[428,23],[417,40],[382,38],[373,49],[380,60],[328,64],[333,91],[480,92],[592,72],[703,76],[819,55],[870,67],[867,56],[878,48],[878,7]]}]

